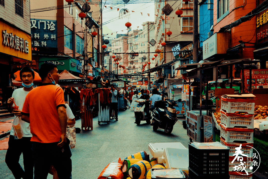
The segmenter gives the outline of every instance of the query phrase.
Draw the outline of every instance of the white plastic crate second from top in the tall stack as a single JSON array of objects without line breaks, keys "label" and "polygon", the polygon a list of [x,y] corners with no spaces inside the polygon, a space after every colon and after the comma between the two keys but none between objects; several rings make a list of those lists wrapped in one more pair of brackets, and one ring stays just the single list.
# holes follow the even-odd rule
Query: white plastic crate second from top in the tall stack
[{"label": "white plastic crate second from top in the tall stack", "polygon": [[237,117],[237,116],[226,116],[221,111],[221,123],[225,124],[226,127],[247,127],[248,129],[254,129],[254,115],[248,118]]}]

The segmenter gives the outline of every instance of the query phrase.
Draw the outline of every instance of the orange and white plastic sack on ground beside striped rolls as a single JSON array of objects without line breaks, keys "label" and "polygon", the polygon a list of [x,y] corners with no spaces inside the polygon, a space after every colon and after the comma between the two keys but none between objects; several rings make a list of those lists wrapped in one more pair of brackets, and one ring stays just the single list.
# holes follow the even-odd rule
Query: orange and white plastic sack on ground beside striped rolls
[{"label": "orange and white plastic sack on ground beside striped rolls", "polygon": [[120,169],[122,166],[122,163],[123,162],[121,158],[118,158],[114,160],[113,162],[109,163],[109,165],[107,165],[105,169],[102,170],[98,179],[106,179],[106,178],[123,179],[124,175]]}]

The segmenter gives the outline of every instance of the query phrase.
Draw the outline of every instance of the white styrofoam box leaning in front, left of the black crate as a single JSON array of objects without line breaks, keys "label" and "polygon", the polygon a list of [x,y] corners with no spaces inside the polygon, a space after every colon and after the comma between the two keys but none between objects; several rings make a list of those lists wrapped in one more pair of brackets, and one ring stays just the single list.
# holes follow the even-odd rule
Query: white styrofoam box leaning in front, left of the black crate
[{"label": "white styrofoam box leaning in front, left of the black crate", "polygon": [[[189,150],[165,148],[164,160],[168,169],[181,169],[188,171],[189,167]],[[187,172],[188,173],[188,172]]]}]

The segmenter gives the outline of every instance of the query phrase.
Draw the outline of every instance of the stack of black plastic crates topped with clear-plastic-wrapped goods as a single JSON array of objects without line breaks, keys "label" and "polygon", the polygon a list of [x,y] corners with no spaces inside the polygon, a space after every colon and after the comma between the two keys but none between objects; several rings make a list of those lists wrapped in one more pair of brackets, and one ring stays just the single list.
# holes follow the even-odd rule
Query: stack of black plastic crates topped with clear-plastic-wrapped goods
[{"label": "stack of black plastic crates topped with clear-plastic-wrapped goods", "polygon": [[[218,143],[218,142],[216,142]],[[200,146],[189,144],[190,179],[227,179],[229,178],[229,149],[220,145]]]}]

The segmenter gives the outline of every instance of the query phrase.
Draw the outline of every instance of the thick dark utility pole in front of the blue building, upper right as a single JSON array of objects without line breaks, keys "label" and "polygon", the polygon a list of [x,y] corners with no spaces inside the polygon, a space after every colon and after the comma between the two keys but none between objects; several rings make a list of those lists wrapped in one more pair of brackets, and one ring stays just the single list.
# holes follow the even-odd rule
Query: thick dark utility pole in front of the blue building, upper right
[{"label": "thick dark utility pole in front of the blue building, upper right", "polygon": [[198,63],[198,0],[193,0],[193,63]]}]

